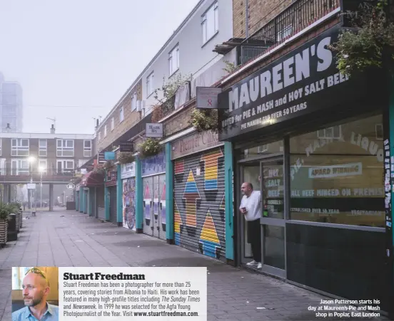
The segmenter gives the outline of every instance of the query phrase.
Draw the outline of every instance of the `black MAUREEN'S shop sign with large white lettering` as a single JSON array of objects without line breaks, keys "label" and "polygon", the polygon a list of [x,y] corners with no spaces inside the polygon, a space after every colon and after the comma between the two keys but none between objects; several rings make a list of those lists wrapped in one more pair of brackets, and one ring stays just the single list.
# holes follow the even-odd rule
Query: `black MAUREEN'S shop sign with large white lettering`
[{"label": "black MAUREEN'S shop sign with large white lettering", "polygon": [[[357,95],[354,79],[339,73],[328,48],[333,27],[218,95],[220,140],[323,109]],[[351,85],[351,87],[350,87]],[[358,93],[360,95],[360,93]],[[353,98],[354,99],[354,98]]]}]

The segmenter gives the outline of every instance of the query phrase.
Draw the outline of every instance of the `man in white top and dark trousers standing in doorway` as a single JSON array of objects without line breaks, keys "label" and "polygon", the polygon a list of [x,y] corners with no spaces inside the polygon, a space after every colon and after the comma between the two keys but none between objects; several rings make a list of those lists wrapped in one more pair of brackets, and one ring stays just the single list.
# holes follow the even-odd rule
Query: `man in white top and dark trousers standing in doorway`
[{"label": "man in white top and dark trousers standing in doorway", "polygon": [[243,194],[241,206],[239,207],[241,213],[245,216],[248,224],[248,243],[251,243],[253,261],[246,265],[257,265],[261,268],[261,193],[260,191],[253,191],[253,185],[245,182],[241,186]]}]

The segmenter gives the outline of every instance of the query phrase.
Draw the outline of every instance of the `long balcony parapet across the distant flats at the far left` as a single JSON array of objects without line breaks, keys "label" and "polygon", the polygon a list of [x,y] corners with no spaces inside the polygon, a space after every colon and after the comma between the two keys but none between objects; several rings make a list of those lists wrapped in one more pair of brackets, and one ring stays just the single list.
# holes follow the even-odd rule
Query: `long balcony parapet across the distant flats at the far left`
[{"label": "long balcony parapet across the distant flats at the far left", "polygon": [[[56,170],[49,170],[48,172],[42,173],[43,183],[70,183],[70,180],[74,177],[74,170],[64,172],[57,172]],[[29,170],[16,170],[16,169],[0,169],[0,184],[1,183],[14,183],[14,184],[26,184],[29,183],[31,178],[34,183],[41,181],[41,172]]]}]

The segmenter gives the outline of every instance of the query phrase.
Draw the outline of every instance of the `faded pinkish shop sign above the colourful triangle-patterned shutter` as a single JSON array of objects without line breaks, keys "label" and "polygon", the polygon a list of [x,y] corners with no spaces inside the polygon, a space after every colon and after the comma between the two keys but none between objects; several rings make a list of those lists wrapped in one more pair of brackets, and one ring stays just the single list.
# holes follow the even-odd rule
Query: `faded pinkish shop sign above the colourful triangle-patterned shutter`
[{"label": "faded pinkish shop sign above the colourful triangle-patterned shutter", "polygon": [[176,159],[196,152],[203,152],[206,149],[221,146],[222,144],[223,142],[219,142],[218,134],[215,132],[194,132],[171,144],[171,159]]}]

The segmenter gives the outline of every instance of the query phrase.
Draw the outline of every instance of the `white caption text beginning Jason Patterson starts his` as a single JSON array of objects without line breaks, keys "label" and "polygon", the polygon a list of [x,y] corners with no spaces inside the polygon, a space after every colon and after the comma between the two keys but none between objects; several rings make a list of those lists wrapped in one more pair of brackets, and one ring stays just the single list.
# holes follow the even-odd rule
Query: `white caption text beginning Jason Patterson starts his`
[{"label": "white caption text beginning Jason Patterson starts his", "polygon": [[310,305],[309,311],[315,317],[358,318],[380,317],[380,300],[320,300],[318,305]]}]

